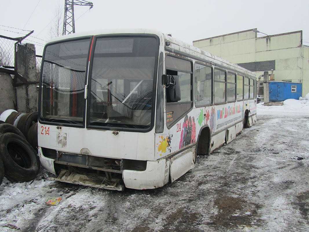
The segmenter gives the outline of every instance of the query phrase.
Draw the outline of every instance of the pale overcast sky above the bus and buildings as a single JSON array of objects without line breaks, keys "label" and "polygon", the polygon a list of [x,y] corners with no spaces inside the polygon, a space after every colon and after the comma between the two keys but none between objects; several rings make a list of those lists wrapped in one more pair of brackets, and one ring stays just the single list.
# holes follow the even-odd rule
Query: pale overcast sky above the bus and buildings
[{"label": "pale overcast sky above the bus and buildings", "polygon": [[[309,45],[308,0],[91,2],[94,6],[90,11],[89,6],[74,6],[76,32],[149,28],[192,44],[194,40],[253,28],[268,35],[303,30],[303,44]],[[62,31],[64,0],[1,0],[0,35],[20,37],[34,30],[28,42],[33,41],[37,54],[41,54],[39,47],[50,39],[59,6]]]}]

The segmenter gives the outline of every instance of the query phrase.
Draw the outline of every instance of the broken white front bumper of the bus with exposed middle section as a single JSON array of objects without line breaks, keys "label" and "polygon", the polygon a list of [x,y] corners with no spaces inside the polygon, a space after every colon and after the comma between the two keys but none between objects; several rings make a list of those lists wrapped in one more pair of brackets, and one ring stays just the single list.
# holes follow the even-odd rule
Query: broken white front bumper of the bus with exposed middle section
[{"label": "broken white front bumper of the bus with exposed middle section", "polygon": [[41,147],[38,150],[42,166],[57,175],[57,178],[49,178],[54,181],[123,191],[124,187],[133,189],[162,187],[169,180],[169,161],[165,159],[128,161],[61,153],[55,150],[51,156]]}]

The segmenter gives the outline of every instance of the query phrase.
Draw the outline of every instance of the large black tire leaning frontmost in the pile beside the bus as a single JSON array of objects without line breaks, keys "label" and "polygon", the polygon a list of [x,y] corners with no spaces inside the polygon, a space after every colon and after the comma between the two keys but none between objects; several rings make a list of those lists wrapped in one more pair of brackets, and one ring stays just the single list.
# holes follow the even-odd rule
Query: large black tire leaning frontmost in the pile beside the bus
[{"label": "large black tire leaning frontmost in the pile beside the bus", "polygon": [[0,157],[4,175],[13,182],[33,180],[40,171],[40,160],[27,140],[14,133],[0,136]]}]

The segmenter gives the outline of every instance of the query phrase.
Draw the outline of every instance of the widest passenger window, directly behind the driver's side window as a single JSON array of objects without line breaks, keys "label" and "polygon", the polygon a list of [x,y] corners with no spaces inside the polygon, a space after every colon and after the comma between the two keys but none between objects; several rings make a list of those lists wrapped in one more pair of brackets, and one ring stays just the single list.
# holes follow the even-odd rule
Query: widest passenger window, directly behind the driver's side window
[{"label": "widest passenger window, directly behind the driver's side window", "polygon": [[210,105],[212,103],[212,67],[196,63],[194,70],[195,105]]}]

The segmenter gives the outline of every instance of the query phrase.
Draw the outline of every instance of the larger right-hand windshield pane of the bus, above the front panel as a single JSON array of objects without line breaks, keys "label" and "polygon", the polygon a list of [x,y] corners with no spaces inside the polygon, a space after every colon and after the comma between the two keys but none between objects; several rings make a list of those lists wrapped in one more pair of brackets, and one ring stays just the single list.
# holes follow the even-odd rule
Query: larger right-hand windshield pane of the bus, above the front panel
[{"label": "larger right-hand windshield pane of the bus, above the front panel", "polygon": [[156,57],[155,37],[97,38],[91,70],[91,126],[150,127]]}]

